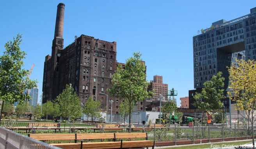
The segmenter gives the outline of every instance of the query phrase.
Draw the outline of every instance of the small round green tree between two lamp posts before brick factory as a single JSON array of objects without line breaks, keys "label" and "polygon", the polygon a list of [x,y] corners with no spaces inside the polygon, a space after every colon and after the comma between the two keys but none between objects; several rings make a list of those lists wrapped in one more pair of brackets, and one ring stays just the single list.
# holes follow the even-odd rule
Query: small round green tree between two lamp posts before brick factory
[{"label": "small round green tree between two lamp posts before brick factory", "polygon": [[88,98],[87,103],[85,103],[85,107],[83,108],[83,112],[87,115],[87,117],[93,122],[96,118],[100,118],[101,112],[101,103],[100,101],[94,101],[92,98]]}]

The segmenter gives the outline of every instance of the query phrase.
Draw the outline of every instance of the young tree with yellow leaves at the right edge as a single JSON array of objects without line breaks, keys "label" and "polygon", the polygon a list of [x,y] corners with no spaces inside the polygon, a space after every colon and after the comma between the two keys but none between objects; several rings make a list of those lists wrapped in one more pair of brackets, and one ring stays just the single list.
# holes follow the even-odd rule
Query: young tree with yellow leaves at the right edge
[{"label": "young tree with yellow leaves at the right edge", "polygon": [[[233,92],[228,92],[229,97],[233,97],[236,101],[236,110],[245,110],[240,112],[242,117],[248,119],[251,126],[256,120],[256,62],[255,60],[245,61],[243,59],[236,60],[238,65],[231,64],[229,71],[229,88]],[[252,131],[252,142],[254,146],[254,130]]]}]

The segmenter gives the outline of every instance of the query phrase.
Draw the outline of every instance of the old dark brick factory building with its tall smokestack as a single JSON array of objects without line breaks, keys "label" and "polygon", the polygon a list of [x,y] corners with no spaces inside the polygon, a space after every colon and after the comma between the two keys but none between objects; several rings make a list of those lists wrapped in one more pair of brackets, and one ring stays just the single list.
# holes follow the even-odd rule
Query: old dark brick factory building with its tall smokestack
[{"label": "old dark brick factory building with its tall smokestack", "polygon": [[81,103],[86,103],[91,97],[101,102],[102,110],[108,108],[110,113],[109,101],[113,100],[113,113],[118,113],[117,108],[121,101],[110,96],[107,91],[107,88],[111,87],[112,75],[117,65],[121,64],[116,60],[116,41],[108,42],[88,35],[80,35],[75,37],[73,43],[63,48],[64,9],[63,3],[57,6],[52,55],[45,57],[43,103],[54,100],[66,84],[71,84]]}]

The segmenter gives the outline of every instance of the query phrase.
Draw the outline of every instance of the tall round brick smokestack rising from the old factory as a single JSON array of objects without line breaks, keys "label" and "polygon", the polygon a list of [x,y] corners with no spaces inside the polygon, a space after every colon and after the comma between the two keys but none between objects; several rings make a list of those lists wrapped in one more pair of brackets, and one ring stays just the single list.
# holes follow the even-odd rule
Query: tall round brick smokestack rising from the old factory
[{"label": "tall round brick smokestack rising from the old factory", "polygon": [[63,38],[62,36],[63,36],[63,25],[64,25],[64,10],[65,10],[65,4],[60,3],[57,6],[57,16],[56,16],[54,37]]}]

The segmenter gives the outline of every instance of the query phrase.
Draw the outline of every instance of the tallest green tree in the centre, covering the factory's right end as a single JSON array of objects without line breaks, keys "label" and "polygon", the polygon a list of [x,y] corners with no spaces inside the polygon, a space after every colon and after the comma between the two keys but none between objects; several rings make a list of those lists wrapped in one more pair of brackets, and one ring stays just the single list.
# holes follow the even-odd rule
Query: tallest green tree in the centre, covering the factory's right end
[{"label": "tallest green tree in the centre, covering the factory's right end", "polygon": [[146,66],[140,59],[141,54],[133,53],[133,57],[126,60],[125,69],[119,65],[113,74],[112,86],[108,89],[111,96],[128,100],[129,124],[131,124],[132,109],[135,103],[150,98],[147,92],[149,83],[146,80]]}]

